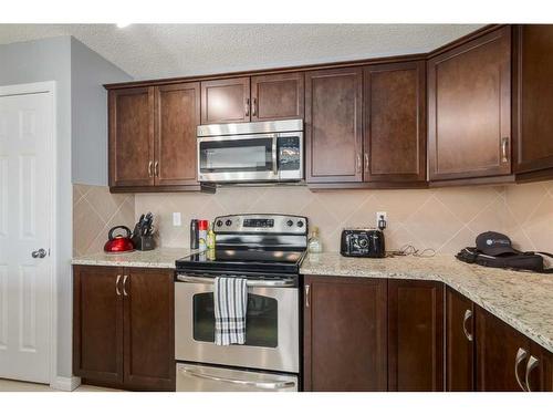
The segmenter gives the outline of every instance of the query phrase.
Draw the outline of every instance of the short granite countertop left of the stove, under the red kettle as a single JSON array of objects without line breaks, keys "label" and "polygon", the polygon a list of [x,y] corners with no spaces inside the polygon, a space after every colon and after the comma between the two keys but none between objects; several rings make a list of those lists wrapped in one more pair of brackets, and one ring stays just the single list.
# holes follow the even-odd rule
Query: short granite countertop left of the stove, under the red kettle
[{"label": "short granite countertop left of the stove, under the red kettle", "polygon": [[73,258],[75,266],[173,268],[175,261],[197,250],[188,248],[158,248],[152,251],[133,251],[127,253],[92,253]]}]

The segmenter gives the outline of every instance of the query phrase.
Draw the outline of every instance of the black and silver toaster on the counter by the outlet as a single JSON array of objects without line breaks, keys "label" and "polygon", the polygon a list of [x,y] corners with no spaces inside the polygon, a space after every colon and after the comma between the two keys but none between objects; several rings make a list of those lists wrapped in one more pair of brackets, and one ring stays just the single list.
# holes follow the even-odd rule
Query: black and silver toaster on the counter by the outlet
[{"label": "black and silver toaster on the counter by the outlet", "polygon": [[344,229],[340,251],[344,257],[384,258],[386,256],[384,231],[364,228]]}]

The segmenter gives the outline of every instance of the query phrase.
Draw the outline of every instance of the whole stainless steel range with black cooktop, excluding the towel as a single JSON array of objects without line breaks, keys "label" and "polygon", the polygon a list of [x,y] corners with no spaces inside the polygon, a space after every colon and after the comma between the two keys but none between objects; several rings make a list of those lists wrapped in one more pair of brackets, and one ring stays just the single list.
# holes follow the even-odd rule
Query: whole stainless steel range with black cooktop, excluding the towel
[{"label": "whole stainless steel range with black cooktop, excluding the towel", "polygon": [[[299,269],[307,219],[236,215],[215,220],[216,246],[177,260],[177,391],[298,391]],[[246,344],[215,340],[213,280],[248,279]]]}]

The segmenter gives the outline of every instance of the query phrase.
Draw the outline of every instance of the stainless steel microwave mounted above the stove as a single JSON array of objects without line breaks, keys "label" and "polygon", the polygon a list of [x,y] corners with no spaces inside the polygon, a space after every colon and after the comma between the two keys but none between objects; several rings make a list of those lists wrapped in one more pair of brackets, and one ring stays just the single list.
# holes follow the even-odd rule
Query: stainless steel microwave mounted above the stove
[{"label": "stainless steel microwave mounted above the stove", "polygon": [[303,120],[198,126],[198,179],[212,183],[299,181]]}]

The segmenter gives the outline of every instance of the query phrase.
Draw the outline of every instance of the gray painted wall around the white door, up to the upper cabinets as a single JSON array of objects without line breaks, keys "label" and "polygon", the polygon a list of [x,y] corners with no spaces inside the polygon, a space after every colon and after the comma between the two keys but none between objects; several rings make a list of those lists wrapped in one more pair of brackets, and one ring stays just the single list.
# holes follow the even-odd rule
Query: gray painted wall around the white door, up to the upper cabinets
[{"label": "gray painted wall around the white door, up to the upper cabinets", "polygon": [[72,172],[75,183],[107,185],[107,106],[102,84],[129,79],[71,37],[0,45],[0,85],[56,82],[59,376],[72,375]]}]

